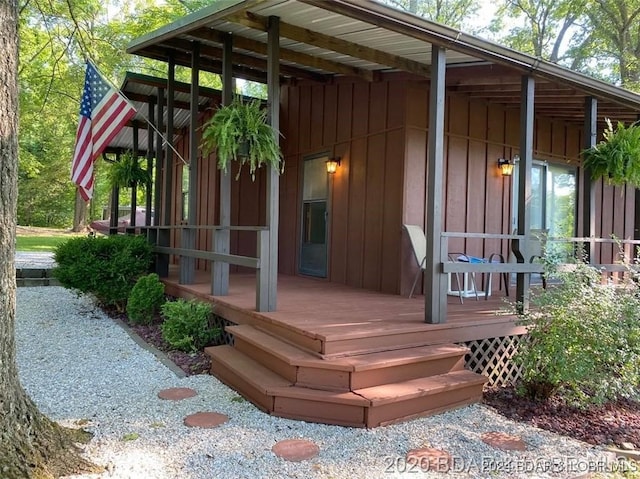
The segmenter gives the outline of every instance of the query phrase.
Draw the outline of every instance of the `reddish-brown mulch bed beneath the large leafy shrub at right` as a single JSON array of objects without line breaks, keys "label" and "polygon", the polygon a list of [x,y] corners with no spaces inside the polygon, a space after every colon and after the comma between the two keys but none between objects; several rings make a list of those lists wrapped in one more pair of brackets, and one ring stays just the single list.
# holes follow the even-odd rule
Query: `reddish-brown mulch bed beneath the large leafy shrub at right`
[{"label": "reddish-brown mulch bed beneath the large leafy shrub at right", "polygon": [[547,431],[594,445],[620,447],[631,443],[640,449],[640,404],[622,400],[583,411],[558,400],[534,402],[518,396],[513,388],[491,389],[484,403],[501,415]]}]

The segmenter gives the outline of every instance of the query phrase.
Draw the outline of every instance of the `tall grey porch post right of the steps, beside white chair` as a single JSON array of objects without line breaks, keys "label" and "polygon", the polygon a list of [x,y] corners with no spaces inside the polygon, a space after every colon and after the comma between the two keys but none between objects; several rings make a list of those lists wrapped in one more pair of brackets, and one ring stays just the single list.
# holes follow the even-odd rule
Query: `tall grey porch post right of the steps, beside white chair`
[{"label": "tall grey porch post right of the steps, beside white chair", "polygon": [[442,184],[444,182],[445,49],[431,47],[429,86],[429,156],[427,158],[427,268],[425,270],[425,322],[447,320],[447,278],[442,272]]}]

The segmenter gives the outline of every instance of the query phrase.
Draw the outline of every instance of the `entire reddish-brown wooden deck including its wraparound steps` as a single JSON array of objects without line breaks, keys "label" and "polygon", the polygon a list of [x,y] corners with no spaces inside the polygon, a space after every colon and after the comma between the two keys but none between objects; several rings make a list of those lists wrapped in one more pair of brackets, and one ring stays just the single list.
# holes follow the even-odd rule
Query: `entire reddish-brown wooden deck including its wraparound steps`
[{"label": "entire reddish-brown wooden deck including its wraparound steps", "polygon": [[209,347],[211,374],[276,416],[377,427],[477,402],[487,378],[465,370],[469,348],[453,343],[523,332],[497,315],[502,298],[450,297],[445,324],[424,323],[424,298],[385,295],[281,276],[278,311],[255,311],[255,275],[230,278],[229,295],[165,279],[173,296],[209,301],[233,345]]}]

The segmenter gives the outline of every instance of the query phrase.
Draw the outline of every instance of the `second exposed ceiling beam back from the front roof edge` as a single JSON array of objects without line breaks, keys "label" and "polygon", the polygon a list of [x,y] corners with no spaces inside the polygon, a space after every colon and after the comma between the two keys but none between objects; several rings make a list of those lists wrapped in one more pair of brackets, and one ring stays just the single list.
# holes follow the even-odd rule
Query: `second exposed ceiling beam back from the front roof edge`
[{"label": "second exposed ceiling beam back from the front roof edge", "polygon": [[[189,32],[189,36],[197,40],[206,40],[222,45],[223,33],[219,30],[211,28],[201,28],[199,30]],[[241,37],[239,35],[233,36],[233,47],[240,48],[242,50],[248,50],[259,53],[261,55],[267,55],[267,44],[252,40],[250,38]],[[234,58],[236,53],[234,52]],[[365,70],[363,68],[353,67],[345,65],[344,63],[336,62],[333,60],[326,60],[324,58],[314,57],[306,53],[296,52],[286,48],[280,49],[280,59],[305,65],[308,67],[316,68],[318,70],[324,70],[328,72],[338,73],[346,76],[354,76],[362,78],[366,81],[373,81],[374,74],[371,70]]]}]

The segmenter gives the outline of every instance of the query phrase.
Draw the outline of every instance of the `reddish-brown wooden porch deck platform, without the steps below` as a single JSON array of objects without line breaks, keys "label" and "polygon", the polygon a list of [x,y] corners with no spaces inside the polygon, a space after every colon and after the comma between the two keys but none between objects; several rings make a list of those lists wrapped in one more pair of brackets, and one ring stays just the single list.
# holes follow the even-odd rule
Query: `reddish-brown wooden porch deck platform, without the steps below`
[{"label": "reddish-brown wooden porch deck platform, without the steps below", "polygon": [[424,322],[424,297],[412,299],[297,276],[278,278],[278,310],[255,311],[255,275],[231,275],[228,296],[211,296],[209,274],[178,284],[177,270],[165,280],[167,293],[216,305],[216,314],[236,324],[258,325],[322,357],[397,349],[411,345],[460,343],[522,334],[515,318],[500,313],[504,296],[448,298],[443,324]]}]

